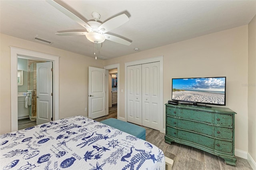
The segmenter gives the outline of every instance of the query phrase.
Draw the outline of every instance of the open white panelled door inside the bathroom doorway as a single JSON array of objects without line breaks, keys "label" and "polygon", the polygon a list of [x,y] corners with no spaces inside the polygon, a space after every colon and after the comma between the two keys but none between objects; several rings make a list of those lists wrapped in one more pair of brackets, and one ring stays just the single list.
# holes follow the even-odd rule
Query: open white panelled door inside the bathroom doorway
[{"label": "open white panelled door inside the bathroom doorway", "polygon": [[36,64],[36,125],[52,119],[52,62]]}]

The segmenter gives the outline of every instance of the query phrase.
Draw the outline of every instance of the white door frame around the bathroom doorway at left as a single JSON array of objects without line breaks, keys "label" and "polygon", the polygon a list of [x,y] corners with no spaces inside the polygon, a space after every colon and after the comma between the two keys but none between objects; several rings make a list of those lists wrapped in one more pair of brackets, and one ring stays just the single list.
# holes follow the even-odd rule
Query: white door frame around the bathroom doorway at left
[{"label": "white door frame around the bathroom doorway at left", "polygon": [[11,57],[11,131],[18,130],[18,56],[52,61],[53,66],[53,120],[59,119],[59,56],[10,46]]}]

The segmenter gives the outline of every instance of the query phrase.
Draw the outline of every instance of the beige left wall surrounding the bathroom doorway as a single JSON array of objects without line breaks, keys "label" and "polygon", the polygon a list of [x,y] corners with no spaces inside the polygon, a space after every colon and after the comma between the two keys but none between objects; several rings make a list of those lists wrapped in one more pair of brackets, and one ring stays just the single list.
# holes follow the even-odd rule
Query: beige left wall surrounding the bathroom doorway
[{"label": "beige left wall surrounding the bathroom doorway", "polygon": [[11,130],[10,46],[59,56],[59,118],[87,116],[88,66],[103,68],[102,60],[5,34],[0,38],[0,134]]}]

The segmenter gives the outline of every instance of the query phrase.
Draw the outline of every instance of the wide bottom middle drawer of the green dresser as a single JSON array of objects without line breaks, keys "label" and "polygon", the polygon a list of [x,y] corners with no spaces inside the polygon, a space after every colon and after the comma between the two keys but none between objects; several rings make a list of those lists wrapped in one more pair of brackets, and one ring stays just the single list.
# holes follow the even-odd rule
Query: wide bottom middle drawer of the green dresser
[{"label": "wide bottom middle drawer of the green dresser", "polygon": [[178,139],[186,140],[194,144],[199,144],[201,146],[210,148],[214,150],[214,138],[204,136],[202,134],[197,134],[193,132],[187,132],[183,130],[178,131]]}]

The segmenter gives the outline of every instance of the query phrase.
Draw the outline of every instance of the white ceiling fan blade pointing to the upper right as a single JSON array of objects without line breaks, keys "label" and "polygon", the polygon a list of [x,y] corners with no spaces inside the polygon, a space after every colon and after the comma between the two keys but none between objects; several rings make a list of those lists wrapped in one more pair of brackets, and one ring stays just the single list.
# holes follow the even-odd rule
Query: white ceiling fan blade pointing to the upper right
[{"label": "white ceiling fan blade pointing to the upper right", "polygon": [[101,24],[99,26],[99,30],[102,33],[109,32],[110,30],[114,30],[115,28],[122,26],[124,23],[128,21],[128,16],[126,14],[121,14]]}]

